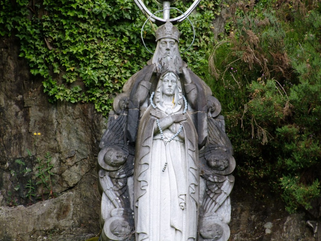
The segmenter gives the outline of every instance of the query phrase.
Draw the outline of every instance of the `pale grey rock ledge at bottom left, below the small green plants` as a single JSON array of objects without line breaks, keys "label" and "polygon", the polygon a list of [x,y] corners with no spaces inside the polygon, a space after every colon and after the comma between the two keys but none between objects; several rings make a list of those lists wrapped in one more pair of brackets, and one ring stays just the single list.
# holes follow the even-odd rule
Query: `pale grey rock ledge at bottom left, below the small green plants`
[{"label": "pale grey rock ledge at bottom left, below the small green plants", "polygon": [[97,193],[93,187],[86,190],[88,181],[95,183],[95,177],[87,174],[86,178],[73,191],[55,199],[29,207],[0,207],[0,240],[86,240],[98,234],[95,227],[99,223],[94,218],[98,213],[94,205],[88,205],[98,203]]}]

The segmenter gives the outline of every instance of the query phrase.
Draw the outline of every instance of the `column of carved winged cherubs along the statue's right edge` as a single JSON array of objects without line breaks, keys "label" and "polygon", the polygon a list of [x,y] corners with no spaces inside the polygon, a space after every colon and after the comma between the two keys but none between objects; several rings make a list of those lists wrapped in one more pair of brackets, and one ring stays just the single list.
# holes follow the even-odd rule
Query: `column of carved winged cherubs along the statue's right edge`
[{"label": "column of carved winged cherubs along the statue's right edge", "polygon": [[206,180],[206,194],[200,212],[200,240],[226,241],[230,236],[230,192],[234,185],[233,148],[225,133],[220,102],[207,96],[208,139],[200,151],[201,176]]}]

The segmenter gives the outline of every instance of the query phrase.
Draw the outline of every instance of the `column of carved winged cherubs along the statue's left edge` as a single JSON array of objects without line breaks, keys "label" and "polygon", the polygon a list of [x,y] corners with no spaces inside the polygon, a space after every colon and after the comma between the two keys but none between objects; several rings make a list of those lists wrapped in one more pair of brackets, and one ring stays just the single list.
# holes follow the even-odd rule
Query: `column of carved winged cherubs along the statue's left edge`
[{"label": "column of carved winged cherubs along the statue's left edge", "polygon": [[[127,101],[127,103],[126,103]],[[127,178],[133,174],[133,155],[126,142],[126,96],[115,98],[108,128],[100,140],[98,190],[101,195],[100,240],[131,240],[134,227]]]}]

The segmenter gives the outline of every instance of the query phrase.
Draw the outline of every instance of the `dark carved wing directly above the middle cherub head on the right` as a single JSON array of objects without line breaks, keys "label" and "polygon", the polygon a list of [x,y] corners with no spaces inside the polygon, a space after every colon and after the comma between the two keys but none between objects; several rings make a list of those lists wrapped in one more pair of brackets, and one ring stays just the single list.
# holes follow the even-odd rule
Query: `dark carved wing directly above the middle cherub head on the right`
[{"label": "dark carved wing directly above the middle cherub head on the right", "polygon": [[217,149],[224,150],[233,155],[233,147],[230,139],[224,131],[224,120],[218,118],[208,118],[208,147],[212,152]]}]

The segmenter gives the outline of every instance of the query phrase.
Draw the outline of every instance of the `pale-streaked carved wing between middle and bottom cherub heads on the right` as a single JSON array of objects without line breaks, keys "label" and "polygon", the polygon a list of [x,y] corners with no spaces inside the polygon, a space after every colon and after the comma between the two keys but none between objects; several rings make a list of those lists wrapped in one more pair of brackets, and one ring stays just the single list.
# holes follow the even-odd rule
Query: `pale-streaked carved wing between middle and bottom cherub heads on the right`
[{"label": "pale-streaked carved wing between middle and bottom cherub heads on the right", "polygon": [[207,196],[203,202],[203,210],[204,213],[215,212],[230,195],[234,186],[234,176],[210,174],[206,179]]}]

